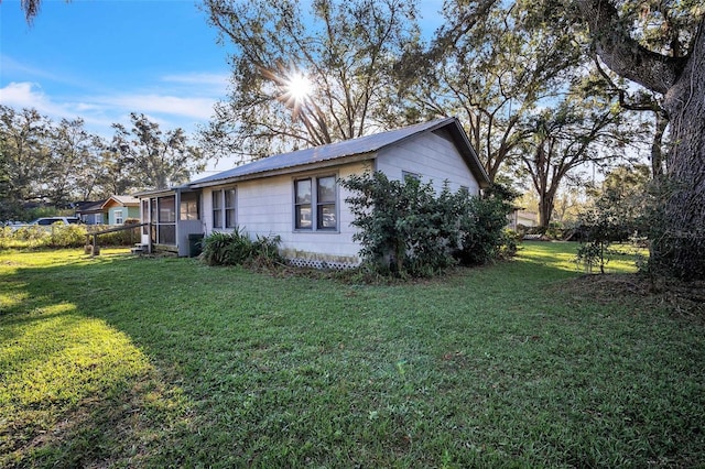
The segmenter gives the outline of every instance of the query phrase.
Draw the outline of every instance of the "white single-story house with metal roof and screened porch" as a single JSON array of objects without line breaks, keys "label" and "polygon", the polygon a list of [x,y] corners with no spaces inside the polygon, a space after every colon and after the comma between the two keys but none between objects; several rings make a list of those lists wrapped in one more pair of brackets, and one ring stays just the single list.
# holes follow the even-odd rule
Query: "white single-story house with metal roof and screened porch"
[{"label": "white single-story house with metal roof and screened porch", "polygon": [[282,254],[300,265],[360,262],[351,194],[338,179],[366,171],[390,179],[405,175],[441,190],[479,194],[487,173],[455,118],[328,145],[278,154],[169,190],[138,194],[142,242],[188,255],[189,239],[240,228],[250,236],[279,236]]}]

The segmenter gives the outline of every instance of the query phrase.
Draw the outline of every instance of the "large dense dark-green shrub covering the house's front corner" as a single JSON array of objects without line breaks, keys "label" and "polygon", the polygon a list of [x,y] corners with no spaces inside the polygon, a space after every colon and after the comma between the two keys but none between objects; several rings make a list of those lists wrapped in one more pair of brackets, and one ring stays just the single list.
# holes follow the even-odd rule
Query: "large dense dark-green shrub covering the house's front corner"
[{"label": "large dense dark-green shrub covering the house's front corner", "polygon": [[352,239],[360,241],[368,269],[382,275],[430,276],[512,252],[501,249],[510,205],[499,192],[471,197],[467,189],[451,193],[446,184],[436,196],[431,184],[390,181],[379,172],[340,184],[354,193],[346,199],[359,228]]}]

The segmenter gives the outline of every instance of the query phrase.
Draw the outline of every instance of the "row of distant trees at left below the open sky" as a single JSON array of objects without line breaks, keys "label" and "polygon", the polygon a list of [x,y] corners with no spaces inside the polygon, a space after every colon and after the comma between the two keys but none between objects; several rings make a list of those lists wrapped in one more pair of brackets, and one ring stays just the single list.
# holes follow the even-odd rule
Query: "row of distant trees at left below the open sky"
[{"label": "row of distant trees at left below the open sky", "polygon": [[106,198],[186,182],[206,157],[182,129],[163,132],[143,114],[132,128],[115,124],[108,143],[82,119],[54,122],[35,109],[0,105],[0,218],[21,216],[22,206]]}]

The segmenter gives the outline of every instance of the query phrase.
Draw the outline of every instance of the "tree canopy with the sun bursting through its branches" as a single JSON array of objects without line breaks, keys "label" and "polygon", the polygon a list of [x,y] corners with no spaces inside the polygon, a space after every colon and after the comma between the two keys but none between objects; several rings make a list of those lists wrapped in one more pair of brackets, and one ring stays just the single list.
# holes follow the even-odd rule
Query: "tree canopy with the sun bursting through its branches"
[{"label": "tree canopy with the sun bursting through its branches", "polygon": [[[308,4],[310,8],[304,8]],[[408,0],[207,0],[220,40],[235,45],[228,100],[204,146],[247,159],[386,129],[391,72],[417,37]]]}]

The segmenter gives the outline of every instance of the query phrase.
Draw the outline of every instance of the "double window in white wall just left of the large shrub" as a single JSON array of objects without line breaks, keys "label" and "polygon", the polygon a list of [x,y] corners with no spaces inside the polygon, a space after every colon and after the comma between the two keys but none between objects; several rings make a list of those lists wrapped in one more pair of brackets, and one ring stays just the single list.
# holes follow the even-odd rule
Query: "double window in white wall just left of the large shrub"
[{"label": "double window in white wall just left of the large shrub", "polygon": [[336,193],[335,176],[294,181],[294,228],[312,231],[336,230],[338,228]]}]

